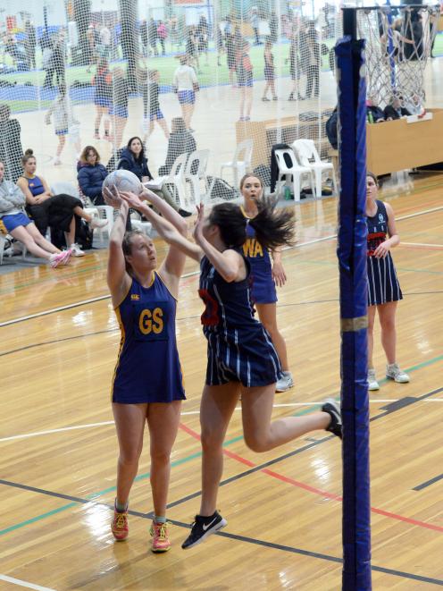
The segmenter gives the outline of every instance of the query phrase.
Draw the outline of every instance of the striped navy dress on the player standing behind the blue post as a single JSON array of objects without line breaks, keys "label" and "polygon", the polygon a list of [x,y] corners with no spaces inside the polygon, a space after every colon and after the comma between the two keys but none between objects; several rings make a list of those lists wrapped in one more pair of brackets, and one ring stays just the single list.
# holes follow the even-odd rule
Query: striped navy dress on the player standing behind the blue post
[{"label": "striped navy dress on the player standing behind the blue post", "polygon": [[377,212],[366,217],[368,227],[368,306],[386,304],[389,301],[403,299],[397,279],[396,267],[390,252],[385,258],[373,256],[375,249],[387,239],[388,213],[384,203],[377,200]]}]

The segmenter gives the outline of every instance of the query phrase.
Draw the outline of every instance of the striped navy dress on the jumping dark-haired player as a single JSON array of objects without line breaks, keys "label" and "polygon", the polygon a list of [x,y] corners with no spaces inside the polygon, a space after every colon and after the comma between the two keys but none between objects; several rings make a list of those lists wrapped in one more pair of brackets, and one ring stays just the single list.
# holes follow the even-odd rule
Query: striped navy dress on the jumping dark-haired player
[{"label": "striped navy dress on the jumping dark-haired player", "polygon": [[249,388],[275,384],[280,377],[279,356],[269,333],[255,320],[249,285],[248,276],[226,282],[202,258],[198,295],[205,302],[201,320],[208,342],[208,385],[240,382]]}]

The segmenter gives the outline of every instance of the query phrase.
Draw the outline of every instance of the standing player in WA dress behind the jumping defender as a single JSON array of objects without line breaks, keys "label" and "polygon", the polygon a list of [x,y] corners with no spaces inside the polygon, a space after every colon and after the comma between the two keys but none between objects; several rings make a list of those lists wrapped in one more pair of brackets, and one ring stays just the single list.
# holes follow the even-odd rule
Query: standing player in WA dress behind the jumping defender
[{"label": "standing player in WA dress behind the jumping defender", "polygon": [[[263,182],[253,175],[247,175],[240,181],[240,192],[244,198],[243,214],[247,219],[257,215],[257,200],[263,195]],[[272,342],[280,358],[281,375],[275,384],[277,392],[285,392],[294,385],[288,366],[286,342],[277,326],[277,292],[286,283],[286,273],[281,264],[280,249],[273,249],[272,263],[268,249],[263,248],[255,236],[251,224],[247,224],[247,241],[243,245],[243,254],[249,261],[252,276],[252,298],[258,312],[260,322],[271,334]]]}]

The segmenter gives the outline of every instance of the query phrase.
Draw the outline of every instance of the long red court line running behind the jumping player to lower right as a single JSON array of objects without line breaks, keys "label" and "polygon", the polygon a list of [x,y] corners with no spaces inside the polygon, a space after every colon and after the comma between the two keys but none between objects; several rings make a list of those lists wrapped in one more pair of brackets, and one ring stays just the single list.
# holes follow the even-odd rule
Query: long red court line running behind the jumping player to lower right
[{"label": "long red court line running behind the jumping player to lower right", "polygon": [[[188,435],[191,435],[191,437],[194,437],[194,439],[196,439],[197,441],[201,440],[200,435],[198,435],[196,433],[196,431],[189,428],[188,426],[180,423],[180,429],[182,431],[185,431],[185,433],[188,433]],[[256,468],[256,466],[257,466],[257,464],[255,464],[254,462],[247,460],[246,458],[243,458],[242,456],[239,456],[237,453],[230,452],[230,450],[223,449],[223,454],[225,456],[227,456],[228,458],[231,458],[232,460],[237,460],[241,464],[245,464],[249,468]],[[295,480],[294,478],[283,476],[282,474],[279,474],[278,472],[274,472],[273,470],[263,468],[263,469],[260,469],[259,471],[263,472],[263,474],[267,474],[268,476],[270,476],[272,478],[276,478],[277,480],[280,480],[281,482],[286,482],[289,485],[297,486],[297,488],[303,488],[305,491],[308,491],[309,493],[319,494],[322,497],[325,497],[327,499],[332,499],[334,501],[340,501],[340,502],[343,501],[343,497],[340,496],[339,494],[334,494],[334,493],[329,493],[327,491],[322,491],[320,488],[316,488],[315,486],[311,486],[311,485],[306,485],[304,482],[300,482],[299,480]],[[441,527],[441,526],[436,526],[432,523],[426,523],[425,521],[419,521],[418,519],[411,519],[410,517],[404,517],[403,515],[398,515],[398,513],[392,513],[391,511],[384,511],[383,509],[377,509],[377,507],[371,507],[371,511],[372,511],[372,513],[376,513],[377,515],[383,515],[384,517],[389,517],[389,519],[397,519],[397,521],[404,521],[405,523],[409,523],[410,525],[413,525],[413,526],[418,526],[419,528],[433,529],[434,531],[443,532],[443,527]]]}]

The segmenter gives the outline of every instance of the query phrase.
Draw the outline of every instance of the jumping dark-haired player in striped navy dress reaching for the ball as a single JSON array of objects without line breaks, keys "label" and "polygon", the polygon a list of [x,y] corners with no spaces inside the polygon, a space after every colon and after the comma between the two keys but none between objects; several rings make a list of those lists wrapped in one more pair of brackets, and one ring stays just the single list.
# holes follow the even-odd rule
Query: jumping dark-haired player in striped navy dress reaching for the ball
[{"label": "jumping dark-haired player in striped navy dress reaching for the ball", "polygon": [[[149,220],[154,222],[158,217],[133,193],[122,196]],[[249,224],[265,248],[275,249],[292,239],[292,215],[285,210],[275,212],[270,203],[259,202],[258,213]],[[315,429],[327,429],[341,437],[341,418],[333,400],[325,402],[321,412],[271,421],[280,363],[269,334],[254,317],[249,264],[241,252],[247,240],[246,227],[240,207],[231,203],[214,206],[206,218],[204,207],[198,207],[196,244],[167,220],[162,218],[156,224],[164,240],[200,261],[199,295],[205,302],[202,324],[208,361],[200,407],[202,501],[182,545],[185,549],[227,523],[215,508],[223,469],[222,444],[240,393],[245,442],[255,452],[267,452]]]}]

